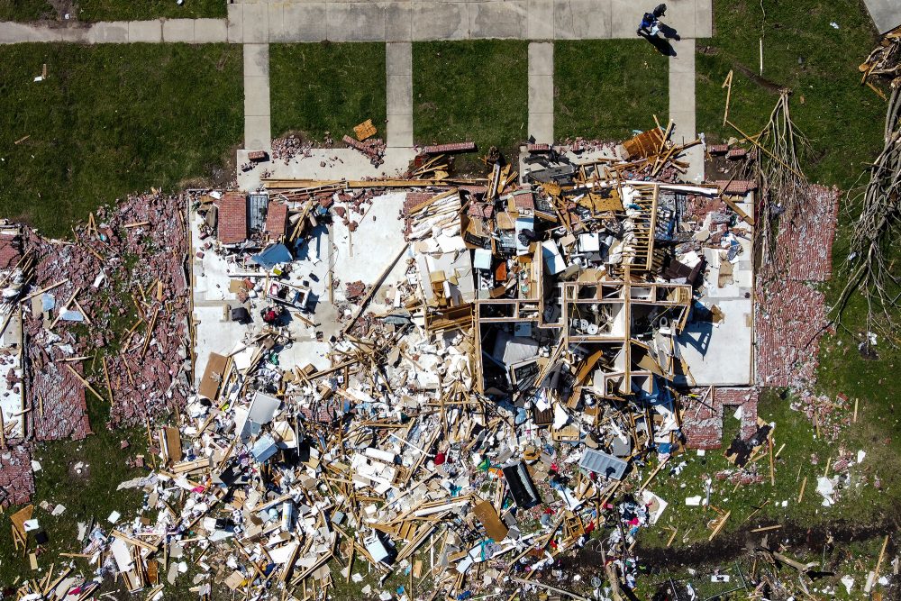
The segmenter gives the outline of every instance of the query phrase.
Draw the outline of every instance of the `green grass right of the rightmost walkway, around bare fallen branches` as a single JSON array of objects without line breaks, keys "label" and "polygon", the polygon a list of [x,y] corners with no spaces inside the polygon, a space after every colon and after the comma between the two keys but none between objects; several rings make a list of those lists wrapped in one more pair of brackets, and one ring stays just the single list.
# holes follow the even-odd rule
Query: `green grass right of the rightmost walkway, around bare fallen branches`
[{"label": "green grass right of the rightmost walkway, around bare fallen branches", "polygon": [[708,141],[740,137],[723,126],[721,86],[730,69],[730,121],[749,134],[769,120],[779,88],[789,87],[796,125],[813,150],[807,176],[847,188],[875,158],[886,110],[882,99],[860,86],[857,67],[877,42],[867,9],[857,0],[768,1],[764,7],[765,21],[757,0],[714,0],[714,38],[696,43],[697,131]]}]

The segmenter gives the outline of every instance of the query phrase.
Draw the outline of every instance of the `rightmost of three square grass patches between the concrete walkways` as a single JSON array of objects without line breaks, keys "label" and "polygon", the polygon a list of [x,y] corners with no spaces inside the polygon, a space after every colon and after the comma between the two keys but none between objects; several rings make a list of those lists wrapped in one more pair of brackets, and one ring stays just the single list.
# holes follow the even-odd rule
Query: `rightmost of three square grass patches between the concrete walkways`
[{"label": "rightmost of three square grass patches between the concrete walkways", "polygon": [[667,123],[669,65],[644,40],[554,44],[554,137],[623,140]]}]

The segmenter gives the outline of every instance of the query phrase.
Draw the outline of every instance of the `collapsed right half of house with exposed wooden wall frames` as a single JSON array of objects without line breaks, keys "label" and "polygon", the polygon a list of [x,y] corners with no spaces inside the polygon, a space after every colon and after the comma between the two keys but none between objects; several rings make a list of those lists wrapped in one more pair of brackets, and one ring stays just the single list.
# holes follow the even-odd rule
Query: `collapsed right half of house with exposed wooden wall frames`
[{"label": "collapsed right half of house with exposed wooden wall frames", "polygon": [[[627,154],[660,143],[645,138]],[[494,168],[484,189],[405,204],[426,331],[471,327],[478,393],[531,407],[558,441],[584,435],[558,403],[595,420],[610,401],[661,405],[638,427],[664,442],[678,390],[751,383],[751,223],[724,220],[718,187],[633,180],[622,164],[542,157],[523,184]],[[746,217],[751,191],[726,202]]]}]

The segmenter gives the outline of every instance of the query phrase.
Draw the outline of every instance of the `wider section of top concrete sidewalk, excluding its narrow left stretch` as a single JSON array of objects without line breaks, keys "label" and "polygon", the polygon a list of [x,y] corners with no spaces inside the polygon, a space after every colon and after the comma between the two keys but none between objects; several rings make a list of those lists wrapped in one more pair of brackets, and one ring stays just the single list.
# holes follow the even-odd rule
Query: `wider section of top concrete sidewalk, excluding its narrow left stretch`
[{"label": "wider section of top concrete sidewalk, excluding its narrow left stretch", "polygon": [[[633,38],[648,6],[633,0],[395,0],[229,5],[229,41],[587,40]],[[666,22],[709,37],[712,0],[671,0]]]}]

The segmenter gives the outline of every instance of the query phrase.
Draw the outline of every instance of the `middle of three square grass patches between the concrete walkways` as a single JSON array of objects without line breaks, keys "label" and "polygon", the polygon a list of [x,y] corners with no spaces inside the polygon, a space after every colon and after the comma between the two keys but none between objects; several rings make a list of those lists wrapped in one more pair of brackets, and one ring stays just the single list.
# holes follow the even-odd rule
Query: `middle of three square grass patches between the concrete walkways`
[{"label": "middle of three square grass patches between the concrete walkways", "polygon": [[529,135],[528,62],[526,41],[414,43],[414,141],[475,141],[514,160]]}]

